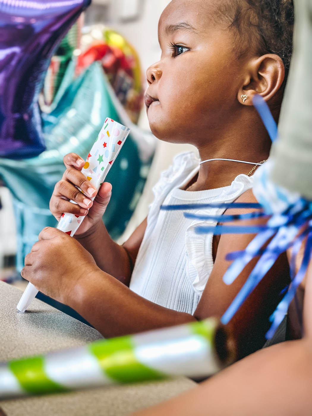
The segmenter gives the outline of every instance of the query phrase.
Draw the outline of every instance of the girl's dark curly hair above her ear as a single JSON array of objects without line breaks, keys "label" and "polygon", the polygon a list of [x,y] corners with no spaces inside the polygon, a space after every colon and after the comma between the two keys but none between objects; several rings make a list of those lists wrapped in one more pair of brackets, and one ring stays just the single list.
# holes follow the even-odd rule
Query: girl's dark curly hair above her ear
[{"label": "girl's dark curly hair above her ear", "polygon": [[255,47],[260,54],[281,57],[287,79],[292,55],[294,6],[292,0],[222,0],[220,15],[237,32],[238,56]]}]

